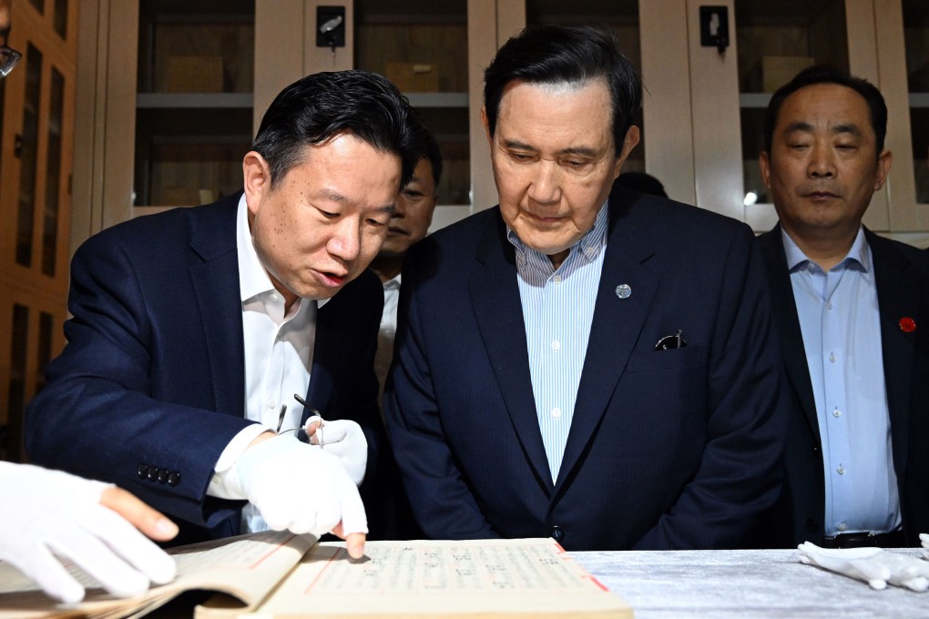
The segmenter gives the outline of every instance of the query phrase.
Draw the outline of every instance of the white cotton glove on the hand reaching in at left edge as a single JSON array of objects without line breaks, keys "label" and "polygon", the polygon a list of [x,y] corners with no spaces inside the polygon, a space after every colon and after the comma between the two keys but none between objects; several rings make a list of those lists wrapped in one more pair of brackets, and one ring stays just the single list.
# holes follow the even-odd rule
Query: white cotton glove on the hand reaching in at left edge
[{"label": "white cotton glove on the hand reaching in at left edge", "polygon": [[77,564],[120,597],[143,593],[150,581],[173,580],[174,559],[122,516],[100,505],[100,495],[110,485],[0,462],[0,559],[63,602],[83,600],[84,587],[55,555]]}]

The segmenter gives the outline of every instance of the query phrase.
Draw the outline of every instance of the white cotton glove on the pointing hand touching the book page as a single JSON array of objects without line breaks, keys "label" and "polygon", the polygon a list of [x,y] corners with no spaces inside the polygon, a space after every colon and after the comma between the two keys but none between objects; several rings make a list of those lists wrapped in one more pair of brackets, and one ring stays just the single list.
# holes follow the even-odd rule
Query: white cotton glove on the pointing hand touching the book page
[{"label": "white cotton glove on the pointing hand touching the book page", "polygon": [[368,533],[358,487],[342,461],[281,434],[253,445],[235,463],[235,478],[275,531],[322,535],[342,522],[345,535]]}]

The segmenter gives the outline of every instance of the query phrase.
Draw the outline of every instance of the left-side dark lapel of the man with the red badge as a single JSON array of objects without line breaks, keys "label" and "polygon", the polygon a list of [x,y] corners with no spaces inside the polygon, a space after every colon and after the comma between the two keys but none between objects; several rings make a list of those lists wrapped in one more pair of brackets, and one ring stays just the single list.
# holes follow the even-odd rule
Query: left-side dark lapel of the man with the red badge
[{"label": "left-side dark lapel of the man with the red badge", "polygon": [[780,234],[778,224],[773,230],[759,237],[758,245],[765,259],[768,286],[771,290],[772,313],[776,329],[778,329],[787,379],[791,381],[793,392],[797,394],[797,399],[800,401],[806,425],[819,443],[816,398],[813,395],[813,382],[810,380],[806,363],[804,336],[800,329],[797,304],[793,298],[793,285],[787,265],[787,254],[784,253],[784,240]]}]

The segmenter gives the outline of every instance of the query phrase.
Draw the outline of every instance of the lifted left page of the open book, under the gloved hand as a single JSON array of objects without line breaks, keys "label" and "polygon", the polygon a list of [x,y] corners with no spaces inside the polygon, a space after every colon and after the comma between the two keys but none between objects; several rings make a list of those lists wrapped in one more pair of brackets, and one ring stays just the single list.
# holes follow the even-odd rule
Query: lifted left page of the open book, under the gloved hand
[{"label": "lifted left page of the open book, under the gloved hand", "polygon": [[268,596],[314,543],[312,535],[268,531],[171,548],[168,552],[177,561],[174,582],[152,587],[146,595],[131,600],[113,598],[80,568],[68,565],[87,591],[84,601],[72,605],[50,600],[32,580],[0,561],[0,619],[126,617],[157,608],[193,589],[227,593],[239,600],[240,610],[250,609]]}]

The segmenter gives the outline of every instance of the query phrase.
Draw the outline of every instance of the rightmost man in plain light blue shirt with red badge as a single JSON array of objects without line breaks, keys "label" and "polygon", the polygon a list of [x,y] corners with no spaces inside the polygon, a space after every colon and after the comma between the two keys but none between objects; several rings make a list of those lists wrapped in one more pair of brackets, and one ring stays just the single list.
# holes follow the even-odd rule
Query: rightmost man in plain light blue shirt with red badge
[{"label": "rightmost man in plain light blue shirt with red badge", "polygon": [[765,546],[919,546],[929,531],[929,264],[861,224],[890,170],[872,84],[814,67],[772,97],[759,242],[792,408]]}]

